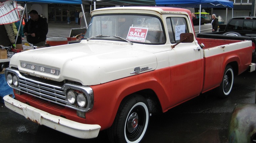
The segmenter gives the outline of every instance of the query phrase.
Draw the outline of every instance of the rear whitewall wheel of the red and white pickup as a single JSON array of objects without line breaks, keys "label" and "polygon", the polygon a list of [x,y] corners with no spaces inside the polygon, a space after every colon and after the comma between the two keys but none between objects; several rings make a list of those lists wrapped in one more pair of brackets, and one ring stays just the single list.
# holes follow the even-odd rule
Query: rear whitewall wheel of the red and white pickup
[{"label": "rear whitewall wheel of the red and white pickup", "polygon": [[234,72],[230,65],[226,66],[220,87],[217,87],[217,95],[220,98],[228,97],[234,82]]}]

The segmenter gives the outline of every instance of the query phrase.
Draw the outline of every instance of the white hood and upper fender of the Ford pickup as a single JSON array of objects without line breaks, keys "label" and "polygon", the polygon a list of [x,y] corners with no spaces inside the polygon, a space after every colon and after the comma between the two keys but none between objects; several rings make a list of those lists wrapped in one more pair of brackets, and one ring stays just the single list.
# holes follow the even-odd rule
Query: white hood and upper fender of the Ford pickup
[{"label": "white hood and upper fender of the Ford pickup", "polygon": [[32,76],[57,82],[71,80],[84,86],[102,84],[157,68],[157,59],[153,53],[132,48],[141,44],[90,41],[17,53],[12,56],[10,67],[17,67],[20,72]]}]

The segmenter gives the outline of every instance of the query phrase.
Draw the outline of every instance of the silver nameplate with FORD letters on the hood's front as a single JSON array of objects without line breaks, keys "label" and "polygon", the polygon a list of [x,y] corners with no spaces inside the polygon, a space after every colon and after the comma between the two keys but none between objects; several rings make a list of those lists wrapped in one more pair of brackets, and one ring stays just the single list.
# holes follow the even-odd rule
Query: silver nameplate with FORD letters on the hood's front
[{"label": "silver nameplate with FORD letters on the hood's front", "polygon": [[23,62],[20,63],[20,66],[22,68],[29,69],[32,71],[39,71],[39,72],[48,73],[48,74],[52,74],[52,75],[59,75],[59,73],[60,73],[60,70],[57,70],[57,69],[23,63]]}]

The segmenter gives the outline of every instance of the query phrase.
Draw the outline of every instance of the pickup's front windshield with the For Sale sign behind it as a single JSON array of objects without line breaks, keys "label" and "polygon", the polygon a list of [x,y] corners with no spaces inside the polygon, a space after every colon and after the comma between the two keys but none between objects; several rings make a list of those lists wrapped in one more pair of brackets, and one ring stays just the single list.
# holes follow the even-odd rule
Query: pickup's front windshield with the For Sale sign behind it
[{"label": "pickup's front windshield with the For Sale sign behind it", "polygon": [[160,20],[146,15],[94,16],[84,38],[125,41],[117,37],[146,44],[163,44],[166,41]]}]

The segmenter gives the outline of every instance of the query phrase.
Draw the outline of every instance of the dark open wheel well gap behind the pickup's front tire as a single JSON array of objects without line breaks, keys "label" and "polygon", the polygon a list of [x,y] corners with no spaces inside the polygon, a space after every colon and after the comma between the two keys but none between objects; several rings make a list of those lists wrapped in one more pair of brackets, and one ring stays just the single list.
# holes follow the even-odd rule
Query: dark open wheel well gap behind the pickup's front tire
[{"label": "dark open wheel well gap behind the pickup's front tire", "polygon": [[149,105],[149,113],[158,114],[162,113],[162,108],[156,93],[152,89],[143,89],[136,92],[137,94],[143,96]]}]

